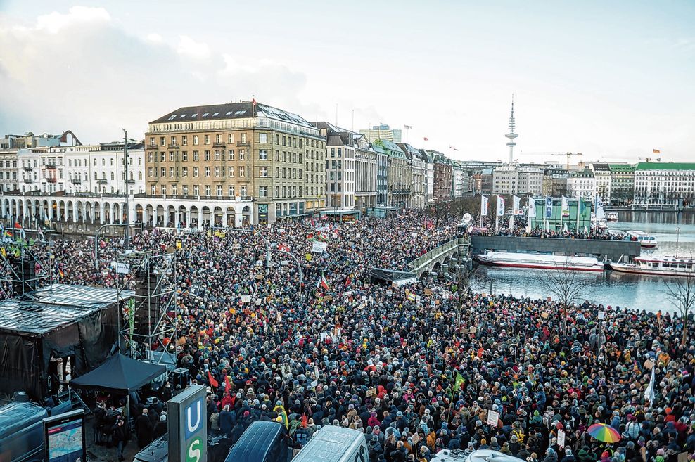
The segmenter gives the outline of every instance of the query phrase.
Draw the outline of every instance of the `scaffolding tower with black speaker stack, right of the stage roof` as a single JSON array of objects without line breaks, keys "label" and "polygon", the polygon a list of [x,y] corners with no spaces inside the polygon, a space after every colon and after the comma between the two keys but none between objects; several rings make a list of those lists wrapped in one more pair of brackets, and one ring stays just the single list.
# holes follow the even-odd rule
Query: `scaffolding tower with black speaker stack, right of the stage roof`
[{"label": "scaffolding tower with black speaker stack, right of the stage roof", "polygon": [[124,252],[111,267],[122,276],[120,292],[134,290],[135,297],[121,302],[119,347],[135,359],[155,364],[176,364],[176,253],[152,250]]}]

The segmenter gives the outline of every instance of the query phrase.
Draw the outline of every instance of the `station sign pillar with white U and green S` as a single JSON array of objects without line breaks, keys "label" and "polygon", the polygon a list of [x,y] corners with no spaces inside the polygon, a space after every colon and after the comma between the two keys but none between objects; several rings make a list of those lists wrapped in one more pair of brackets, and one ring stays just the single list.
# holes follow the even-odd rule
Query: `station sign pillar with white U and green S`
[{"label": "station sign pillar with white U and green S", "polygon": [[170,462],[207,462],[206,388],[193,385],[167,402]]}]

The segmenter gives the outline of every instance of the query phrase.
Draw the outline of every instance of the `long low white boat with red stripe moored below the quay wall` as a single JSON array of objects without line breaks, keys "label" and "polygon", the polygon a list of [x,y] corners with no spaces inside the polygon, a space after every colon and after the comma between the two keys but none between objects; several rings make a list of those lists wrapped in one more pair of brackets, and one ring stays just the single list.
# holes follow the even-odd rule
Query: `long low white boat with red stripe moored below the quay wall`
[{"label": "long low white boat with red stripe moored below the quay wall", "polygon": [[491,267],[568,269],[570,271],[604,271],[596,257],[570,257],[521,252],[487,252],[476,255],[480,264]]}]

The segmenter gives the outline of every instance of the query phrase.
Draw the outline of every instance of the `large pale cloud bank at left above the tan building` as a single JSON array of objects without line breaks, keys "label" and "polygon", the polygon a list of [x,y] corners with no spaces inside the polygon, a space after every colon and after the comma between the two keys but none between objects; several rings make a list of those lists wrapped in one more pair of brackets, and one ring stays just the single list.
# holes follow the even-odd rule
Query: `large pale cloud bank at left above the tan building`
[{"label": "large pale cloud bank at left above the tan building", "polygon": [[149,121],[181,106],[252,94],[295,113],[320,114],[299,99],[307,81],[301,72],[223,56],[195,37],[174,43],[155,31],[136,37],[103,8],[1,21],[0,133],[72,129],[87,143],[117,139],[121,128],[144,136]]}]

